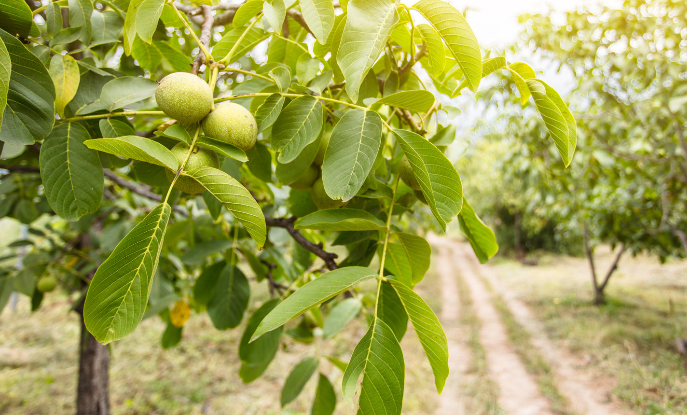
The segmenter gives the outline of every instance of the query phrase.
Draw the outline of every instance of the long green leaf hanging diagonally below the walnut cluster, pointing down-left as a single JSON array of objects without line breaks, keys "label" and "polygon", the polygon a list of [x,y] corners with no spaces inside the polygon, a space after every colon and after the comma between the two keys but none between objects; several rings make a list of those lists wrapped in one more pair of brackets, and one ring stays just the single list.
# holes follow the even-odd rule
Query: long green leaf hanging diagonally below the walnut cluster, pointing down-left
[{"label": "long green leaf hanging diagonally below the walnut cluster, pointing down-left", "polygon": [[86,295],[84,321],[101,343],[126,337],[141,322],[170,212],[167,203],[157,205],[95,272]]}]

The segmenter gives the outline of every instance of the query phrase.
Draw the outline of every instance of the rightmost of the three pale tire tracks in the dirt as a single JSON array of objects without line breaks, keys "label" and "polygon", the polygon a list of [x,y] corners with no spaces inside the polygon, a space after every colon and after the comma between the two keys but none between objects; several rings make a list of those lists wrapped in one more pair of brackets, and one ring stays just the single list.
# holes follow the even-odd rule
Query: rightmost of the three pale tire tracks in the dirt
[{"label": "rightmost of the three pale tire tracks in the dirt", "polygon": [[608,398],[613,385],[609,385],[608,381],[602,381],[599,377],[595,378],[589,371],[576,369],[578,359],[575,359],[567,350],[554,346],[546,335],[543,325],[534,317],[529,307],[518,300],[515,294],[508,291],[503,284],[499,284],[495,270],[488,265],[480,265],[477,259],[470,255],[468,251],[470,249],[469,245],[458,245],[462,245],[464,252],[467,251],[465,256],[471,260],[473,268],[477,269],[477,273],[501,295],[510,313],[527,330],[531,337],[532,346],[537,348],[539,354],[551,367],[559,392],[565,396],[572,406],[570,409],[579,415],[634,414],[629,410],[621,408],[618,403],[609,401]]}]

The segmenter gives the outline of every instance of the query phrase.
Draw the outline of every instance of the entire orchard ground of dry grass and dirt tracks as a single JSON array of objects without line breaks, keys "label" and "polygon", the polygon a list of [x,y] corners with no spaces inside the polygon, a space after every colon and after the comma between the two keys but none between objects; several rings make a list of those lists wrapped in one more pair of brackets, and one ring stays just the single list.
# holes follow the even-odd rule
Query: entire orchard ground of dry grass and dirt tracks
[{"label": "entire orchard ground of dry grass and dirt tracks", "polygon": [[[597,308],[583,258],[544,255],[535,267],[495,258],[482,266],[465,243],[431,243],[431,271],[417,289],[447,331],[451,375],[437,396],[409,330],[401,343],[404,414],[687,412],[687,380],[674,346],[685,336],[687,262],[624,258],[609,284],[609,304]],[[598,251],[598,262],[611,262],[609,249]],[[0,414],[74,413],[78,320],[69,306],[65,294],[52,294],[30,313],[21,298],[16,311],[0,315]],[[113,344],[113,414],[276,414],[286,374],[314,353],[286,339],[267,372],[245,385],[236,374],[243,328],[219,332],[195,315],[171,350],[159,346],[163,330],[153,317]],[[319,353],[350,353],[363,334],[359,319]],[[328,363],[320,369],[340,390],[341,372]],[[309,413],[314,390],[311,381],[284,413]],[[339,397],[337,414],[353,413]]]}]

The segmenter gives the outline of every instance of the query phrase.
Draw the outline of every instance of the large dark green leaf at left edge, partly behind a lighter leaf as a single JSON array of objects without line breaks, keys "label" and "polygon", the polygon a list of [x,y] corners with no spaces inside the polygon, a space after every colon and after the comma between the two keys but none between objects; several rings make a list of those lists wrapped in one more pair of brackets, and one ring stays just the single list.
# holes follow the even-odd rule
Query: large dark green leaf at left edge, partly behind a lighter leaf
[{"label": "large dark green leaf at left edge, partly behind a lighter leaf", "polygon": [[3,30],[0,30],[0,38],[12,63],[0,140],[17,146],[33,144],[52,130],[55,87],[41,60],[19,40]]}]

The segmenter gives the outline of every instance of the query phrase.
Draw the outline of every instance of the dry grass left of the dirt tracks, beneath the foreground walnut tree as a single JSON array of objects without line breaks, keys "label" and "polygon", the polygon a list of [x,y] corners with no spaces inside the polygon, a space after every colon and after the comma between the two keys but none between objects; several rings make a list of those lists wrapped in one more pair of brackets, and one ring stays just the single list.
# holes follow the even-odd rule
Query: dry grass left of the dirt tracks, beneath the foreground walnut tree
[{"label": "dry grass left of the dirt tracks, beneath the foreground walnut tree", "polygon": [[[252,287],[254,292],[262,287]],[[264,295],[264,294],[263,294]],[[77,373],[78,317],[69,299],[48,295],[36,313],[22,298],[16,313],[0,315],[0,414],[73,414]],[[322,355],[348,353],[365,333],[363,317],[333,341]],[[145,320],[133,335],[112,346],[110,391],[113,414],[278,414],[280,390],[293,366],[315,354],[311,345],[282,341],[282,350],[260,379],[243,384],[237,350],[243,327],[216,330],[207,315],[194,315],[177,348],[159,346],[164,325]],[[404,414],[431,414],[436,390],[429,363],[412,328],[402,341],[406,360]],[[321,359],[319,369],[336,390],[341,371]],[[315,379],[315,377],[313,377]],[[309,414],[316,381],[282,413]],[[341,399],[337,414],[353,414]]]}]

